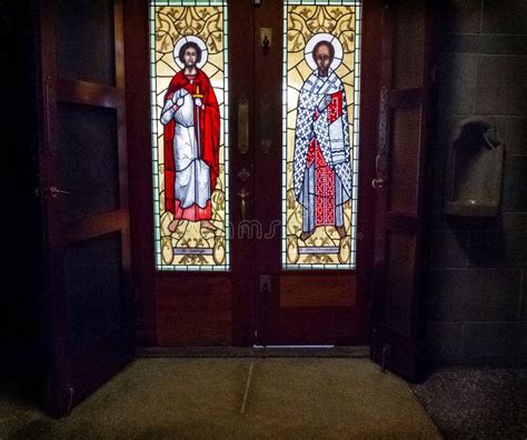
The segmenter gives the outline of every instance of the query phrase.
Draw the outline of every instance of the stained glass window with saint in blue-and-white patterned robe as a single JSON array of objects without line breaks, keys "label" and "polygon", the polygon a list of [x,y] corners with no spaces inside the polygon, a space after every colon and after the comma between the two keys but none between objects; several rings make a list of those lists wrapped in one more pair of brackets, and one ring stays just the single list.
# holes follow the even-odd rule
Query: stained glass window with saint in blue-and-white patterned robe
[{"label": "stained glass window with saint in blue-and-white patterned robe", "polygon": [[360,2],[284,7],[282,267],[356,264]]}]

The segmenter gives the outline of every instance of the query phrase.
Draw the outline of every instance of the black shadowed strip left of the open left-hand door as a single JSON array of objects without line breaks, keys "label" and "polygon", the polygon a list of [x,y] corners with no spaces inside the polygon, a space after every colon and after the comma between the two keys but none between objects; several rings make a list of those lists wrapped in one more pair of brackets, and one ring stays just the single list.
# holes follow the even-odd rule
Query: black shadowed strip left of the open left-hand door
[{"label": "black shadowed strip left of the open left-hand door", "polygon": [[44,371],[34,17],[30,1],[0,3],[0,390],[29,404],[42,401]]}]

